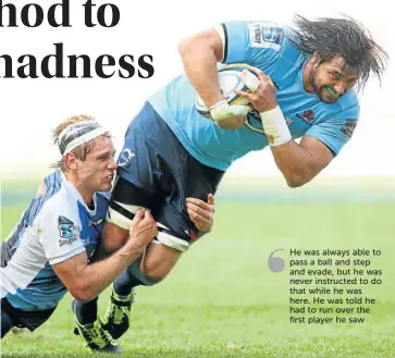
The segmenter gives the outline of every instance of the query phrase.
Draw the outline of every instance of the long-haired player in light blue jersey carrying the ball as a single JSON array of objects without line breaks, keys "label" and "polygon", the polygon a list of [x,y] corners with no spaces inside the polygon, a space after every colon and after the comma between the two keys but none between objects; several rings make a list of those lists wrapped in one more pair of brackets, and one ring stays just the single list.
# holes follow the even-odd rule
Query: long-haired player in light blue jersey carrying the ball
[{"label": "long-haired player in light blue jersey carrying the ball", "polygon": [[[163,280],[205,234],[188,212],[203,217],[210,208],[186,198],[206,200],[232,162],[266,147],[291,187],[311,181],[351,137],[359,118],[357,90],[372,74],[381,78],[386,63],[385,51],[353,18],[299,15],[285,27],[224,23],[184,40],[180,53],[185,74],[148,99],[127,128],[119,159],[101,250],[122,247],[140,208],[151,210],[158,235],[113,284],[103,318],[113,337],[129,325],[134,287]],[[259,86],[239,92],[251,106],[223,99],[219,62],[244,63],[256,72]],[[252,87],[247,76],[243,81]],[[197,95],[212,121],[194,107]],[[89,309],[76,307],[79,314]]]}]

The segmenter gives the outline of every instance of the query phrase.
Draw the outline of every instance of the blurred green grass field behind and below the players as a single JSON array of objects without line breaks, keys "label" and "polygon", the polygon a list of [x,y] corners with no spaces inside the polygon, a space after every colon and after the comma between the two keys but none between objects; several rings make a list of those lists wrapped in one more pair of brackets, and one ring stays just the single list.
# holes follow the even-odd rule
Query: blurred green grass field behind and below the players
[{"label": "blurred green grass field behind and below the players", "polygon": [[[2,185],[1,237],[34,195],[36,183]],[[160,285],[138,289],[127,357],[395,357],[395,189],[391,178],[316,181],[288,189],[279,181],[225,178],[213,233],[185,254]],[[381,249],[368,286],[378,304],[365,324],[288,323],[288,268],[272,273],[277,248]],[[285,260],[288,251],[280,252]],[[102,295],[101,312],[108,301]],[[34,334],[10,333],[3,357],[83,357],[73,336],[70,296]],[[243,346],[243,348],[240,348]]]}]

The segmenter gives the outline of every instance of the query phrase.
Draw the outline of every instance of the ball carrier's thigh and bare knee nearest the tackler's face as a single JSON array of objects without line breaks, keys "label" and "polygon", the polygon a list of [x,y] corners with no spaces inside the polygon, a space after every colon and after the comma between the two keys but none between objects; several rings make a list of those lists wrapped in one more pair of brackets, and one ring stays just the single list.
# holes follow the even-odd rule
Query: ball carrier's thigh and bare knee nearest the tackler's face
[{"label": "ball carrier's thigh and bare knee nearest the tackler's face", "polygon": [[[107,217],[111,225],[104,226],[107,246],[119,246],[127,239],[137,210],[150,209],[155,217],[160,201],[157,196],[159,161],[155,140],[163,145],[163,140],[157,138],[160,131],[156,127],[155,116],[153,109],[146,103],[126,131]],[[157,135],[152,136],[152,131]]]}]

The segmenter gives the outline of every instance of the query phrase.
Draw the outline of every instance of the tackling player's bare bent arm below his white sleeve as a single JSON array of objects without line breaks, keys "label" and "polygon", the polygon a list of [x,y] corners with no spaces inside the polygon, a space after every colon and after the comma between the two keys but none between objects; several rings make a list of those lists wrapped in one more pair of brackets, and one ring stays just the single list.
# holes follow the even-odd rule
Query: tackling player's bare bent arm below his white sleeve
[{"label": "tackling player's bare bent arm below his white sleeve", "polygon": [[157,234],[157,224],[150,212],[139,210],[132,221],[129,238],[122,248],[107,259],[88,264],[86,252],[83,251],[52,264],[52,268],[76,299],[89,301],[140,257]]}]

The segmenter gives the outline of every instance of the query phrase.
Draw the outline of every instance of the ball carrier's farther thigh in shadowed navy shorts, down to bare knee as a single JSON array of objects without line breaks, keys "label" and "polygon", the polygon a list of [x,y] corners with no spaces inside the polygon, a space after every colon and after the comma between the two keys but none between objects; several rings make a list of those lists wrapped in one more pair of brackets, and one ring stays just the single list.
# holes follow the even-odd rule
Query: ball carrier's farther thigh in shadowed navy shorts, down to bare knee
[{"label": "ball carrier's farther thigh in shadowed navy shorts, down to bare knee", "polygon": [[206,201],[208,194],[215,193],[223,175],[223,172],[198,162],[184,148],[177,147],[175,140],[172,145],[183,159],[172,168],[177,171],[172,176],[172,189],[166,192],[169,194],[156,213],[158,236],[147,248],[140,264],[141,272],[156,281],[162,280],[196,240],[198,231],[188,215],[186,198]]}]

